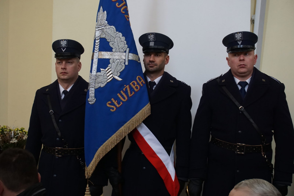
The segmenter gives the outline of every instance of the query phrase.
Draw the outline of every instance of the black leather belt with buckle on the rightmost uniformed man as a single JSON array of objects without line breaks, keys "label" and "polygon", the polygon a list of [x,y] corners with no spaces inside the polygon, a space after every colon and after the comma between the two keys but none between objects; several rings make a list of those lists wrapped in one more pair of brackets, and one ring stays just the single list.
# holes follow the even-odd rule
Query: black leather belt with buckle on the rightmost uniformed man
[{"label": "black leather belt with buckle on the rightmost uniformed man", "polygon": [[246,145],[246,144],[233,144],[229,142],[225,142],[214,137],[211,137],[210,142],[218,147],[231,150],[236,152],[237,154],[245,154],[245,153],[254,153],[254,152],[268,152],[272,150],[271,143],[264,145]]}]

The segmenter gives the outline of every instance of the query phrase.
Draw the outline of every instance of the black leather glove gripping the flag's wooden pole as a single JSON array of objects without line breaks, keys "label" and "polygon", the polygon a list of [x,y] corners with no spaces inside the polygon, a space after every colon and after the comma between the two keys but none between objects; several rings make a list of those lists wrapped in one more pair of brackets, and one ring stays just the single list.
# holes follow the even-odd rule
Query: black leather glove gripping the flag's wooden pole
[{"label": "black leather glove gripping the flag's wooden pole", "polygon": [[107,167],[106,174],[108,175],[109,182],[112,186],[112,196],[119,195],[119,183],[122,182],[121,174],[114,167]]}]

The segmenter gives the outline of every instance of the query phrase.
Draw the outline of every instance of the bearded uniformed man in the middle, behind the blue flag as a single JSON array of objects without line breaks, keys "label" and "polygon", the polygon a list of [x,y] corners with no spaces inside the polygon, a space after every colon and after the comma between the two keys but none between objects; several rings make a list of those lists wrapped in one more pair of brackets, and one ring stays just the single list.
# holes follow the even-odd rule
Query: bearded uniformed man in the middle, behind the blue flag
[{"label": "bearded uniformed man in the middle, behind the blue flag", "polygon": [[[170,156],[176,140],[176,176],[180,191],[188,180],[188,157],[191,137],[191,87],[164,71],[169,62],[168,52],[173,41],[160,33],[147,33],[139,38],[143,47],[145,81],[151,114],[143,121]],[[152,84],[153,83],[153,84]],[[131,145],[123,157],[123,193],[132,195],[170,195],[155,166],[138,147],[132,132]],[[153,142],[152,141],[152,142]],[[148,144],[148,146],[151,144]],[[178,192],[176,193],[178,194]]]}]

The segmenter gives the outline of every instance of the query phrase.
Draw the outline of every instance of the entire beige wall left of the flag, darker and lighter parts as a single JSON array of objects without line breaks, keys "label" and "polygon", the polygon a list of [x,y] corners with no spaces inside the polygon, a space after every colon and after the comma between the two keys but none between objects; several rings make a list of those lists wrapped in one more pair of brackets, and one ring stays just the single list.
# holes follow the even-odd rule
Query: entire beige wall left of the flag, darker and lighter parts
[{"label": "entire beige wall left of the flag, darker and lighter parts", "polygon": [[75,39],[84,46],[80,75],[88,80],[93,47],[88,38],[94,36],[98,4],[97,0],[0,1],[0,125],[29,128],[36,90],[56,80],[53,41]]}]

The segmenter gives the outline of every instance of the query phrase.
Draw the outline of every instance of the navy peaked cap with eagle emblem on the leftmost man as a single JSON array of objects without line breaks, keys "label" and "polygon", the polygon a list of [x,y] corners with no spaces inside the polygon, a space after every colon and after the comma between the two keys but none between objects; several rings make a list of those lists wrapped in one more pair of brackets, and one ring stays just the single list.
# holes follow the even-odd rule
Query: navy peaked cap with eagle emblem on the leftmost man
[{"label": "navy peaked cap with eagle emblem on the leftmost man", "polygon": [[57,59],[69,59],[78,57],[84,53],[82,44],[72,39],[59,39],[52,43],[52,49]]}]

